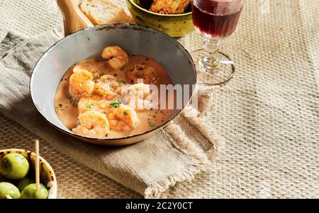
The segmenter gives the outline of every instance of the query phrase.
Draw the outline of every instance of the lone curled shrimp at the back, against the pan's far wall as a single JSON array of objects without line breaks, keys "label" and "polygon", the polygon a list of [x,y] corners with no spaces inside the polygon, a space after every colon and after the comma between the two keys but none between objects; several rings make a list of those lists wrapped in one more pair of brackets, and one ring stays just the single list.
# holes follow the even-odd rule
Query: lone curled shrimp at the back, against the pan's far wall
[{"label": "lone curled shrimp at the back, against the pan's far wall", "polygon": [[102,58],[108,60],[108,65],[114,70],[123,69],[128,64],[128,54],[118,46],[105,48]]}]

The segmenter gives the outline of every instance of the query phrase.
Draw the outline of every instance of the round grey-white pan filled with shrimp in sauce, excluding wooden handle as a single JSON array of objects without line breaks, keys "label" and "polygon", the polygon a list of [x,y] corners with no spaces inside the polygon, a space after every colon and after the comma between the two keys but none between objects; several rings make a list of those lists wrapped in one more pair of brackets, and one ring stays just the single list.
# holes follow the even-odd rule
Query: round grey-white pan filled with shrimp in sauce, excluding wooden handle
[{"label": "round grey-white pan filled with shrimp in sauce, excluding wooden handle", "polygon": [[[179,109],[160,108],[150,99],[168,84],[189,93]],[[47,50],[34,67],[30,94],[47,123],[62,133],[123,146],[172,121],[195,84],[194,62],[177,40],[146,26],[111,24],[68,35]]]}]

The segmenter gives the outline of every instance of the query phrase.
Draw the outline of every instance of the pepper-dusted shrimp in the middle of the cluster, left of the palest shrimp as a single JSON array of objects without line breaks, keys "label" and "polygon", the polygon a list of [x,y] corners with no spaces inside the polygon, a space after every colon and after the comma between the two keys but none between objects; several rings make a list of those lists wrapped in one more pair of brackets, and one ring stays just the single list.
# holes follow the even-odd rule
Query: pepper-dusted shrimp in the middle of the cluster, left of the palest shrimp
[{"label": "pepper-dusted shrimp in the middle of the cluster, left of the palest shrimp", "polygon": [[103,75],[96,81],[94,92],[108,100],[114,99],[121,93],[121,85],[111,75]]}]

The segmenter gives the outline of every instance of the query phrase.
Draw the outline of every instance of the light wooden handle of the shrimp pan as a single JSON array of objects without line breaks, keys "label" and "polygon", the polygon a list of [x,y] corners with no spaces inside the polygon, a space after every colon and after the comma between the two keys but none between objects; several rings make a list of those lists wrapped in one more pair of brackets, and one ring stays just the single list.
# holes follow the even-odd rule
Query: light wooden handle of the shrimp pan
[{"label": "light wooden handle of the shrimp pan", "polygon": [[84,28],[93,26],[91,21],[82,13],[76,0],[57,0],[65,23],[65,36]]}]

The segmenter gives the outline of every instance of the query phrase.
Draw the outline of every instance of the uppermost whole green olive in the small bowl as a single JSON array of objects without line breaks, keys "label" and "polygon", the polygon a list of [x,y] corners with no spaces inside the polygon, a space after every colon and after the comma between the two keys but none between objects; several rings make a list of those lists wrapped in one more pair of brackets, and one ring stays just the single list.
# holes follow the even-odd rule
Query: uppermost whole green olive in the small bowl
[{"label": "uppermost whole green olive in the small bowl", "polygon": [[29,167],[28,160],[18,153],[10,153],[0,160],[0,174],[10,180],[26,177]]}]

